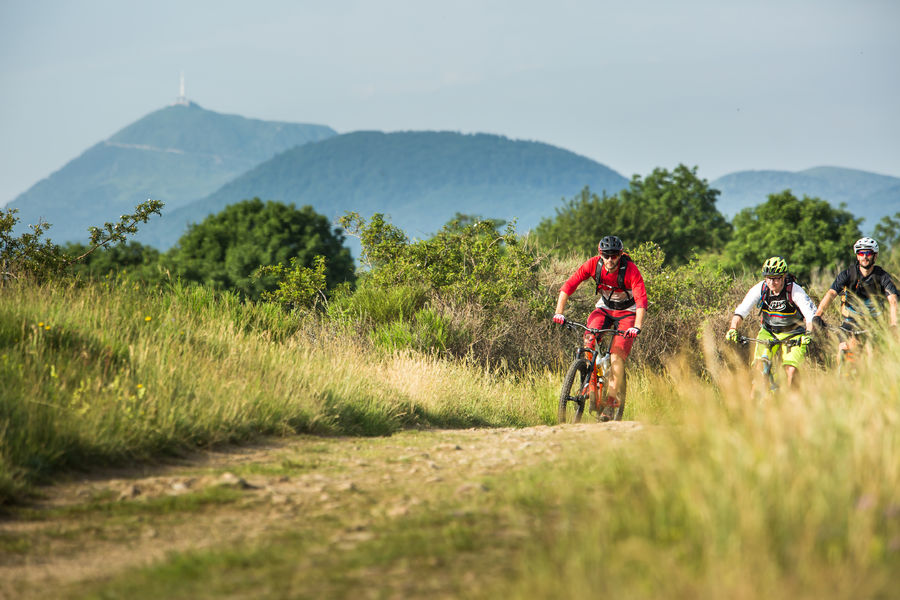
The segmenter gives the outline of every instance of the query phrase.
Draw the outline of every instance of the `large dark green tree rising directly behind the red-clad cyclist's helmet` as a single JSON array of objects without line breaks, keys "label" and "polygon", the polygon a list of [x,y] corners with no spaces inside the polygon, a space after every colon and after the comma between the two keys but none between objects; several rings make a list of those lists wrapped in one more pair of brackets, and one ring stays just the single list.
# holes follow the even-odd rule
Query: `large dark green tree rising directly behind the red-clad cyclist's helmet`
[{"label": "large dark green tree rising directly behind the red-clad cyclist's helmet", "polygon": [[678,165],[635,175],[618,195],[602,198],[585,188],[535,233],[543,244],[563,252],[584,252],[605,235],[617,235],[629,248],[655,242],[669,264],[686,264],[697,253],[721,250],[731,226],[716,209],[719,191],[697,177],[697,168]]}]

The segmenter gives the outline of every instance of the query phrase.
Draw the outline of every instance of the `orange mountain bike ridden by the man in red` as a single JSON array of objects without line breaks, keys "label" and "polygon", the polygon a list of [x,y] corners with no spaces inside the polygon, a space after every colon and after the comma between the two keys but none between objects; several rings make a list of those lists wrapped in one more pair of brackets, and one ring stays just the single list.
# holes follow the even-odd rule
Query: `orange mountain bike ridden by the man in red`
[{"label": "orange mountain bike ridden by the man in red", "polygon": [[[610,346],[614,336],[625,333],[618,329],[595,329],[576,321],[566,321],[563,327],[583,329],[582,343],[575,348],[575,359],[569,367],[559,392],[557,418],[560,423],[579,423],[585,404],[589,412],[597,414],[598,421],[621,421],[625,412],[625,400],[618,406],[608,406],[607,377],[610,372]],[[596,404],[590,406],[591,391],[596,391]]]}]

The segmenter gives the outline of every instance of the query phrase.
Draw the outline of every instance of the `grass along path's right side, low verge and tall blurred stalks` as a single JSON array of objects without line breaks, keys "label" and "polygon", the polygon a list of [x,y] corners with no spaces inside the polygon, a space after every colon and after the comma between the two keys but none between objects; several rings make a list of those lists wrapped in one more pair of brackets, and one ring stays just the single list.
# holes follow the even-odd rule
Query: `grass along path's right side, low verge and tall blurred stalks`
[{"label": "grass along path's right side, low verge and tall blurred stalks", "polygon": [[577,451],[477,494],[419,490],[421,510],[374,519],[349,549],[274,534],[173,555],[97,596],[896,598],[900,351],[861,368],[761,399],[745,365],[638,372],[643,430],[569,429]]}]

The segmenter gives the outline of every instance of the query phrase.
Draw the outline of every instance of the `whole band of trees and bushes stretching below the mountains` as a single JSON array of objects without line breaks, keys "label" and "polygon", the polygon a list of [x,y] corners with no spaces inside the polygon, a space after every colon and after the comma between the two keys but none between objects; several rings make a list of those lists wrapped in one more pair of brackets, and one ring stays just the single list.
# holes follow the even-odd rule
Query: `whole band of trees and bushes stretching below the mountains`
[{"label": "whole band of trees and bushes stretching below the mountains", "polygon": [[[781,255],[807,280],[817,269],[848,262],[862,235],[861,219],[844,206],[790,190],[729,222],[716,208],[718,194],[696,168],[679,165],[635,176],[613,196],[585,188],[529,235],[517,234],[511,223],[457,214],[422,240],[409,239],[377,213],[347,214],[335,225],[309,206],[253,198],[192,225],[166,253],[125,243],[162,209],[156,201],[93,228],[88,244],[62,247],[43,237],[47,224],[14,238],[15,210],[7,209],[0,215],[0,285],[62,273],[151,287],[180,280],[347,324],[388,348],[544,360],[549,350],[534,339],[547,336],[523,344],[523,332],[544,327],[572,265],[613,234],[641,264],[654,297],[652,356],[726,310],[722,302],[735,275],[756,274],[766,258]],[[883,219],[874,233],[883,254],[900,247],[900,214]],[[360,240],[361,269],[346,235]]]}]

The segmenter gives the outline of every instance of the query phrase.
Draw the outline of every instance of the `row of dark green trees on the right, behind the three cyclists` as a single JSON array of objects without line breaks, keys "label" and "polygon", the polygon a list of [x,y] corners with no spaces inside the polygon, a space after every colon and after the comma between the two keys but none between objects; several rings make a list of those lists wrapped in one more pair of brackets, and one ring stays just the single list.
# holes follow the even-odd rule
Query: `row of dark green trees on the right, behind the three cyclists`
[{"label": "row of dark green trees on the right, behind the three cyclists", "polygon": [[[862,236],[861,218],[820,198],[797,198],[783,190],[741,210],[729,223],[716,208],[718,195],[697,177],[696,167],[655,169],[644,178],[635,176],[615,196],[585,188],[544,219],[535,234],[562,253],[589,252],[609,234],[635,247],[652,241],[671,265],[699,256],[737,273],[755,271],[766,258],[779,255],[800,278],[847,262],[848,248]],[[884,248],[896,247],[900,213],[882,219],[874,235]]]}]

